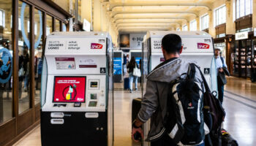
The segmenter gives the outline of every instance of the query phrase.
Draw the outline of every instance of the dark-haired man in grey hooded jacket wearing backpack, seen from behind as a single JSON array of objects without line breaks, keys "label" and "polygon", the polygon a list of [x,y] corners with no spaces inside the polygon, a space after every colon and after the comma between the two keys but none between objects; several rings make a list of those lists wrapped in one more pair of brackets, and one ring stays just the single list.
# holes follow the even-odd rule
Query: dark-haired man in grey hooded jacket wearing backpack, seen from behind
[{"label": "dark-haired man in grey hooded jacket wearing backpack, seen from behind", "polygon": [[147,76],[140,112],[132,123],[135,142],[138,134],[143,138],[141,126],[151,118],[146,139],[151,146],[204,145],[203,80],[195,64],[180,58],[181,44],[177,34],[162,38],[165,61]]}]

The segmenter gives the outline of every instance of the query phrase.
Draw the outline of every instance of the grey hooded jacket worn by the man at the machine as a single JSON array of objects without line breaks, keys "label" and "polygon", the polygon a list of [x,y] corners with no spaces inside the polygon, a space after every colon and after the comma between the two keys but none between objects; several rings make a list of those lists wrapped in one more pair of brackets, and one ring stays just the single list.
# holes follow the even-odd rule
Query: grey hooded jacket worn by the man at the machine
[{"label": "grey hooded jacket worn by the man at the machine", "polygon": [[[146,83],[146,93],[141,102],[138,118],[146,122],[151,118],[151,129],[147,141],[154,141],[165,134],[163,118],[167,110],[167,94],[170,92],[170,82],[176,80],[183,73],[189,71],[189,63],[181,58],[172,58],[159,64],[150,74]],[[200,72],[196,69],[195,80],[203,87]]]}]

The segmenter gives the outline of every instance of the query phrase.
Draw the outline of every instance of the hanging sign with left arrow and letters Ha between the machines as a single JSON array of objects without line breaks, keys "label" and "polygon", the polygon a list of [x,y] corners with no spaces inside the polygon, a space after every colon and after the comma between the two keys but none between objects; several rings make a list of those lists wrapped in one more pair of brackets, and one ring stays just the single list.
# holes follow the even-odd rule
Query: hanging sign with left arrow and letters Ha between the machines
[{"label": "hanging sign with left arrow and letters Ha between the machines", "polygon": [[145,34],[129,34],[129,47],[132,49],[141,49],[144,36]]}]

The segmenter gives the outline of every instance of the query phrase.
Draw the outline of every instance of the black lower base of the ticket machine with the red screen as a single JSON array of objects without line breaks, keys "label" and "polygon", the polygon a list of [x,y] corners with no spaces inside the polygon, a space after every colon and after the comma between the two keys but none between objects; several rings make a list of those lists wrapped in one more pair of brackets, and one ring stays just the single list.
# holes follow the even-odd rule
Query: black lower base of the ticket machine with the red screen
[{"label": "black lower base of the ticket machine with the red screen", "polygon": [[[86,112],[63,113],[64,118],[51,118],[51,112],[41,110],[42,146],[108,145],[108,112],[98,112],[98,118],[86,118]],[[64,119],[64,123],[53,124],[52,119]]]}]

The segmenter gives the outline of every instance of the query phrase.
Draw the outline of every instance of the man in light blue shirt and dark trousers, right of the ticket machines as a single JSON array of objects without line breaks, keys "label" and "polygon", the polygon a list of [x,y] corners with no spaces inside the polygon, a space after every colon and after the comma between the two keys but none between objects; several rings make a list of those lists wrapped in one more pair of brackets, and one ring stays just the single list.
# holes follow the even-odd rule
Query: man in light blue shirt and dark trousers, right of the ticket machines
[{"label": "man in light blue shirt and dark trousers, right of the ticket machines", "polygon": [[225,59],[222,58],[222,56],[219,55],[220,48],[215,47],[215,59],[216,59],[216,67],[217,67],[217,82],[218,82],[218,99],[219,101],[223,102],[223,96],[224,96],[224,85],[227,83],[227,80],[225,78],[225,74],[227,76],[230,76],[229,72],[227,71],[227,64],[225,62]]}]

